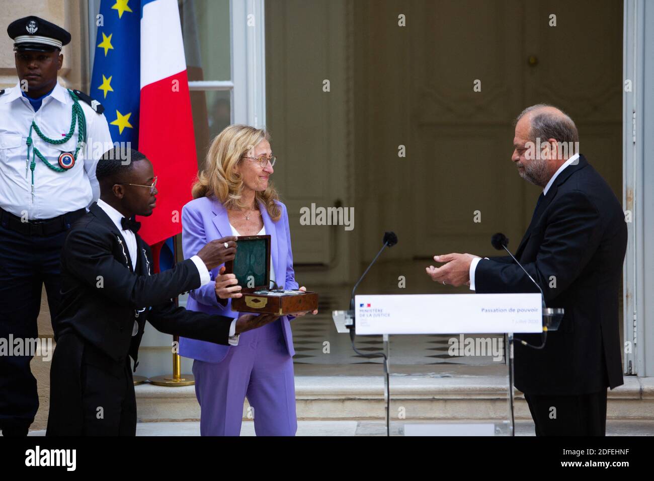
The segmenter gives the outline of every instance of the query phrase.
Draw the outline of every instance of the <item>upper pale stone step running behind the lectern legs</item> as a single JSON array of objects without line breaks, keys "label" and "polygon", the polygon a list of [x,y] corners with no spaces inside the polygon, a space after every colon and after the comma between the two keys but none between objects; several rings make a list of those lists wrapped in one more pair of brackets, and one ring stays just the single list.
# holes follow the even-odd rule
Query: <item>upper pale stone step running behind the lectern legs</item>
[{"label": "upper pale stone step running behind the lectern legs", "polygon": [[[385,419],[381,376],[296,376],[298,419]],[[137,385],[138,419],[197,421],[200,415],[193,386]],[[524,396],[515,391],[515,419],[530,419]],[[398,419],[507,419],[506,376],[390,376],[390,416]],[[251,418],[247,400],[243,418]],[[654,378],[625,376],[608,393],[608,419],[654,420]]]}]

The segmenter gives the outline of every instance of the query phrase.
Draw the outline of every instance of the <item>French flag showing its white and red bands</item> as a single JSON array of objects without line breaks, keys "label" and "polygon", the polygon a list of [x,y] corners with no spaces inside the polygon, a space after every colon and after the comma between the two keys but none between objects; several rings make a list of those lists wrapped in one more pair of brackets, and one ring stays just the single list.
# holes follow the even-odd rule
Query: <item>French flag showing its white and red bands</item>
[{"label": "French flag showing its white and red bands", "polygon": [[139,151],[158,176],[157,206],[139,234],[150,245],[182,230],[182,206],[198,172],[177,0],[141,0]]}]

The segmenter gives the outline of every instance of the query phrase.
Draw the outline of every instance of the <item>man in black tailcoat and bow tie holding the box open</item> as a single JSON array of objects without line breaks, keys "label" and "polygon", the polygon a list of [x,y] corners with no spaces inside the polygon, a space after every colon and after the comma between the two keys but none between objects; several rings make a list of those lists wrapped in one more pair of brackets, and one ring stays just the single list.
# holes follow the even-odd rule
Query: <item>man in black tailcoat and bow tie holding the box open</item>
[{"label": "man in black tailcoat and bow tie holding the box open", "polygon": [[150,247],[134,215],[151,215],[156,177],[143,154],[105,152],[97,164],[100,199],[71,228],[61,254],[61,306],[50,370],[48,436],[136,433],[131,365],[145,321],[167,334],[216,344],[274,321],[230,319],[177,307],[173,298],[209,283],[209,270],[235,257],[235,237],[209,242],[198,255],[152,274]]}]

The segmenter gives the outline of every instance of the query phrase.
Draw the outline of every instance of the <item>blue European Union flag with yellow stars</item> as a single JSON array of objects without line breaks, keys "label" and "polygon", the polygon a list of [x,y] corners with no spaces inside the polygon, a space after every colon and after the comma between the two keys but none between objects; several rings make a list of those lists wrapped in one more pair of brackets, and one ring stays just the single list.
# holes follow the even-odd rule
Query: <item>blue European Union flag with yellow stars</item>
[{"label": "blue European Union flag with yellow stars", "polygon": [[105,107],[111,138],[138,148],[141,0],[101,0],[90,95]]}]

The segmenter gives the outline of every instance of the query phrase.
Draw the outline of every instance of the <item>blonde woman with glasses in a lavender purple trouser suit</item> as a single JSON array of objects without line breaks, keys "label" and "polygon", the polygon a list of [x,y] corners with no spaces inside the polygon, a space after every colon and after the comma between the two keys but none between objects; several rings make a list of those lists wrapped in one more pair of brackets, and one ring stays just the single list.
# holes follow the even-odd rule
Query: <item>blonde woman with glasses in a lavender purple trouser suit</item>
[{"label": "blonde woman with glasses in a lavender purple trouser suit", "polygon": [[[232,125],[220,132],[193,186],[194,200],[182,209],[184,257],[224,236],[269,234],[271,281],[280,289],[298,289],[286,206],[269,183],[274,165],[265,130]],[[237,317],[232,298],[242,294],[235,276],[224,274],[224,266],[210,274],[215,283],[191,291],[186,308]],[[295,435],[292,318],[280,317],[243,334],[231,332],[231,346],[180,339],[179,353],[194,359],[202,436],[238,436],[246,397],[253,408],[256,435]]]}]

